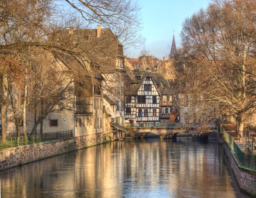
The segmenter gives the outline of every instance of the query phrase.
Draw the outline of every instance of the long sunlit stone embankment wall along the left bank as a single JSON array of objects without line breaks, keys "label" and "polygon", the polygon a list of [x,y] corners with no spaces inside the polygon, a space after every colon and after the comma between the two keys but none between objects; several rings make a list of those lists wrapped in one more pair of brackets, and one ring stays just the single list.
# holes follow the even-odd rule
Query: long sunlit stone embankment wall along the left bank
[{"label": "long sunlit stone embankment wall along the left bank", "polygon": [[97,133],[76,138],[12,147],[0,152],[0,170],[27,164],[78,149],[111,141],[110,134]]}]

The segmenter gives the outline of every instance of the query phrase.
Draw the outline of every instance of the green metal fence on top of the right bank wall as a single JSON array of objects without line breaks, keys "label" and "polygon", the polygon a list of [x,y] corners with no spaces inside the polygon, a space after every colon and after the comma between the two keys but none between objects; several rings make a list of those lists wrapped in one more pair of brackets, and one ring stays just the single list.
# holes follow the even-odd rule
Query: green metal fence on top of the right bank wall
[{"label": "green metal fence on top of the right bank wall", "polygon": [[234,152],[236,153],[236,156],[241,164],[248,168],[256,169],[256,155],[243,152],[241,148],[239,148],[238,143],[234,141],[234,139],[225,131],[224,128],[221,128],[220,132],[224,135],[224,139],[230,145],[230,147],[234,149]]}]

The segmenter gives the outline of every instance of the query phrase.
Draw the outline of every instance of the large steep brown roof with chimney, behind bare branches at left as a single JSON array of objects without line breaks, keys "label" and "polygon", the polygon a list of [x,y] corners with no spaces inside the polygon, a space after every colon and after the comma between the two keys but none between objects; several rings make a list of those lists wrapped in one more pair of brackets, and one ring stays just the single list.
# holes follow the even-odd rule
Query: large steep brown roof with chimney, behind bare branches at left
[{"label": "large steep brown roof with chimney, behind bare branches at left", "polygon": [[101,29],[99,37],[97,29],[61,30],[55,32],[49,40],[73,49],[78,55],[78,60],[88,63],[90,69],[99,74],[115,72],[116,58],[124,58],[122,43],[108,28]]}]

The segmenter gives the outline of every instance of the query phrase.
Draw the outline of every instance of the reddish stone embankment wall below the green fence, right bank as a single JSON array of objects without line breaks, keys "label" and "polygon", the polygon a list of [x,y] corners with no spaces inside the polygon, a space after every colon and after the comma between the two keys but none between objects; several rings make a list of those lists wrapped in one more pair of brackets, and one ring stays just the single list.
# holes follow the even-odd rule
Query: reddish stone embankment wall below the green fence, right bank
[{"label": "reddish stone embankment wall below the green fence, right bank", "polygon": [[235,157],[235,153],[230,149],[228,144],[224,141],[222,135],[219,133],[218,143],[221,143],[224,147],[224,152],[230,161],[231,169],[235,175],[239,188],[242,191],[256,197],[256,170],[241,166]]}]

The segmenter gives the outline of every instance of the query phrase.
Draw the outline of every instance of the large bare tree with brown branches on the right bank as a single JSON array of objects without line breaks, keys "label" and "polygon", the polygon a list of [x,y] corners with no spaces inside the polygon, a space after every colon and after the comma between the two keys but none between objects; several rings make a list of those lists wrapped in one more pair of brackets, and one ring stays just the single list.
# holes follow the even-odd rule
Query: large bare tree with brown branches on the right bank
[{"label": "large bare tree with brown branches on the right bank", "polygon": [[183,74],[180,87],[196,101],[190,104],[200,112],[199,106],[204,112],[215,107],[219,114],[236,117],[239,137],[256,104],[256,43],[248,36],[255,32],[250,20],[255,6],[252,0],[213,1],[183,22],[182,50],[176,56]]}]

